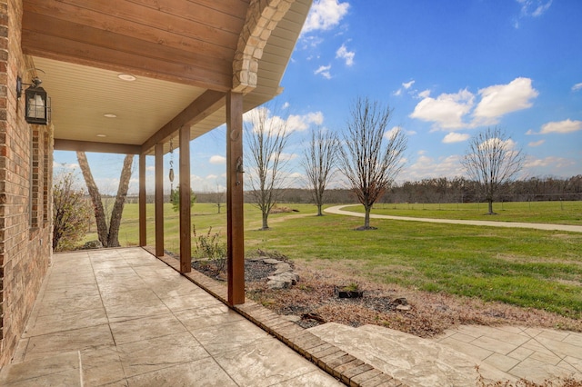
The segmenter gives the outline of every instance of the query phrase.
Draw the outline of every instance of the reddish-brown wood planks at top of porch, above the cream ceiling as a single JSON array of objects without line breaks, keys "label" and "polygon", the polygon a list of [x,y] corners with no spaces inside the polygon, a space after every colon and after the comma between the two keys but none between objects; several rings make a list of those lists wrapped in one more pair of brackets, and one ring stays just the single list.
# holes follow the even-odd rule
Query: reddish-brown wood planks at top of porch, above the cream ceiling
[{"label": "reddish-brown wood planks at top of porch, above the cream ceiling", "polygon": [[205,1],[25,0],[23,47],[29,55],[226,91],[247,6],[232,3],[225,12]]}]

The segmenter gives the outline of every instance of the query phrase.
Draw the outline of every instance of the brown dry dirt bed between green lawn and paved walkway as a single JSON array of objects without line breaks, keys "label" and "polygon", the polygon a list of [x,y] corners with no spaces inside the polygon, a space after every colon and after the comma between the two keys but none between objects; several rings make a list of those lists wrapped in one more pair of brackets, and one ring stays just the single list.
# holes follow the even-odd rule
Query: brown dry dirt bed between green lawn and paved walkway
[{"label": "brown dry dirt bed between green lawn and paved walkway", "polygon": [[[295,263],[299,282],[285,290],[270,290],[266,280],[246,283],[247,296],[279,314],[300,318],[303,327],[336,322],[351,326],[376,324],[432,337],[460,324],[522,325],[582,332],[582,322],[554,313],[504,303],[440,293],[426,293],[395,285],[371,283],[332,270],[317,270]],[[249,273],[247,273],[249,275]],[[335,286],[357,281],[364,297],[340,299]],[[406,307],[402,305],[406,300]]]}]

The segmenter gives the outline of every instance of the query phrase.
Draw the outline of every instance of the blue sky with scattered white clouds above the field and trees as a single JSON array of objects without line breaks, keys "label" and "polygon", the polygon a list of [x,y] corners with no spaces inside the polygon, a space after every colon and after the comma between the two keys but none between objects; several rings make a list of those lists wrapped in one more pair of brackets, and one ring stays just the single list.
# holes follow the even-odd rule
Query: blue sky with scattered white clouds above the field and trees
[{"label": "blue sky with scattered white clouds above the field and trees", "polygon": [[[521,177],[582,174],[581,19],[579,0],[314,1],[276,98],[293,132],[294,184],[309,129],[341,133],[357,97],[389,105],[389,130],[407,134],[398,181],[464,175],[469,138],[496,125],[527,154]],[[196,191],[225,186],[224,128],[191,154]],[[123,156],[88,158],[102,191],[115,192]],[[55,153],[57,170],[75,164]]]}]

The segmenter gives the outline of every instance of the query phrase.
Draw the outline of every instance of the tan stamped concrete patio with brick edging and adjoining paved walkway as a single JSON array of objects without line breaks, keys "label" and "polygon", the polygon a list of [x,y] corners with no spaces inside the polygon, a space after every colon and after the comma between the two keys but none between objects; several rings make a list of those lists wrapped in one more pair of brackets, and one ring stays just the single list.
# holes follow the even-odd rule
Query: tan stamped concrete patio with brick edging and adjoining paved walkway
[{"label": "tan stamped concrete patio with brick edging and adjoining paved walkway", "polygon": [[[376,325],[303,329],[171,257],[53,257],[0,386],[470,386],[582,378],[582,334],[461,326],[421,339]],[[341,382],[339,382],[341,381]]]}]

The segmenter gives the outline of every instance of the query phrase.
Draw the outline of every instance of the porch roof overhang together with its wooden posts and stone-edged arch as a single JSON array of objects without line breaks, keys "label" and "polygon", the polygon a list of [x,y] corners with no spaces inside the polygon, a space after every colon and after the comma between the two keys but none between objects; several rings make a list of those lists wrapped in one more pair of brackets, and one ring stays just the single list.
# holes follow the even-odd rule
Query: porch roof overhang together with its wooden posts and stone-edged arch
[{"label": "porch roof overhang together with its wooden posts and stone-edged arch", "polygon": [[[55,149],[156,156],[156,255],[164,255],[163,154],[180,147],[180,272],[191,270],[189,142],[226,124],[228,302],[245,302],[243,113],[281,92],[311,0],[23,0],[22,50],[52,99]],[[135,77],[127,81],[123,74]],[[121,77],[119,75],[122,75]],[[107,117],[107,115],[115,115]]]}]

